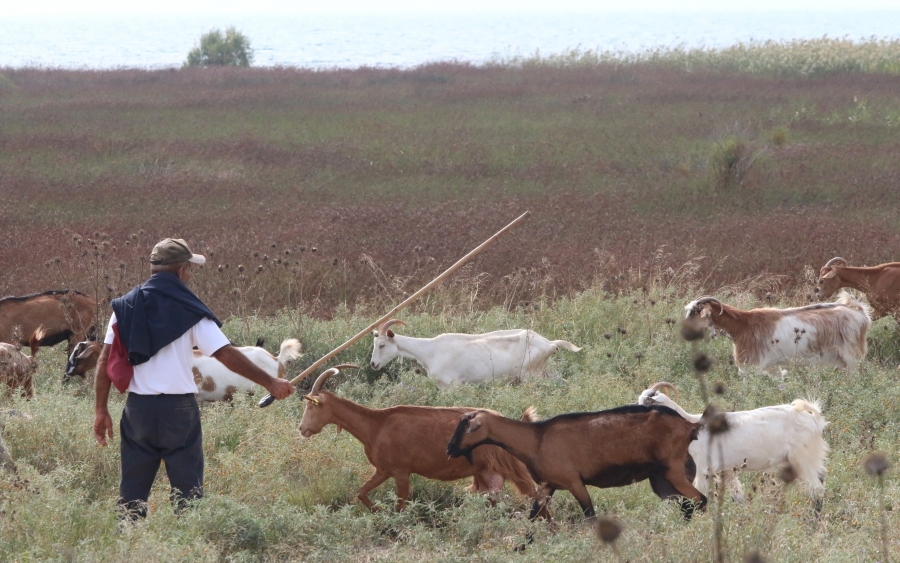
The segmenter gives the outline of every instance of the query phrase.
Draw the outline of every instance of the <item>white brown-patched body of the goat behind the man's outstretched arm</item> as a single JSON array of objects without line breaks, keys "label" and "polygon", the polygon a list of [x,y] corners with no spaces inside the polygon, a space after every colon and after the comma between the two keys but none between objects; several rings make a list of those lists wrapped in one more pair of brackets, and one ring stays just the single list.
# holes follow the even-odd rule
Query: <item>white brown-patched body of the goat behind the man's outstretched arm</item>
[{"label": "white brown-patched body of the goat behind the man's outstretched arm", "polygon": [[[296,360],[300,353],[300,341],[288,338],[281,343],[281,350],[276,358],[260,346],[241,346],[238,350],[272,377],[284,378],[284,367],[291,360]],[[253,394],[255,383],[226,368],[219,360],[204,356],[194,350],[193,367],[194,382],[197,384],[197,402],[212,403],[215,401],[231,401],[235,393],[246,391]]]}]

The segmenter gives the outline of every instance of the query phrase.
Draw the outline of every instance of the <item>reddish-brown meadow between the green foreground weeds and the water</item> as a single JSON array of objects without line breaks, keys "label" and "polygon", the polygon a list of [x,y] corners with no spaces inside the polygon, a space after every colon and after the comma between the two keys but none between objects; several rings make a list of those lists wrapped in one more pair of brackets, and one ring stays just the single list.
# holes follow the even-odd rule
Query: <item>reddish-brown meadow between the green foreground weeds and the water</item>
[{"label": "reddish-brown meadow between the green foreground weeds and the water", "polygon": [[0,295],[118,295],[179,236],[222,315],[387,306],[525,210],[456,278],[480,304],[900,255],[897,76],[0,73]]}]

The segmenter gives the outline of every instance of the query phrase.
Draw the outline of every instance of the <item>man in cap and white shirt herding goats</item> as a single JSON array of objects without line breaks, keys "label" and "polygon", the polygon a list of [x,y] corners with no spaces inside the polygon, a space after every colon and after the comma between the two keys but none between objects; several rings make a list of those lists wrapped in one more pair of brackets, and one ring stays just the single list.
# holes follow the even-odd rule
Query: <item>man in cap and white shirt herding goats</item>
[{"label": "man in cap and white shirt herding goats", "polygon": [[[191,371],[194,346],[262,385],[276,399],[294,392],[289,381],[268,375],[232,346],[219,328],[222,323],[187,288],[192,264],[205,262],[182,239],[160,241],[150,254],[150,278],[112,302],[113,314],[97,362],[94,437],[101,446],[113,437],[107,408],[112,380],[107,367],[111,345],[118,338],[134,370],[119,423],[118,504],[130,518],[146,516],[160,460],[166,462],[172,500],[178,508],[203,496],[203,440]],[[130,369],[126,371],[130,374]]]}]

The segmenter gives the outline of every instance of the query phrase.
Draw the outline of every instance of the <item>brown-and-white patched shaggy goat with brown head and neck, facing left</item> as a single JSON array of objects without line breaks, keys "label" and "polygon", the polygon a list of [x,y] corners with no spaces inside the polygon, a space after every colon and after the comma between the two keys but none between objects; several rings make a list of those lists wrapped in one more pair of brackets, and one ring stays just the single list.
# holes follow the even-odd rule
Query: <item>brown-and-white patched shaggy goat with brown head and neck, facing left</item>
[{"label": "brown-and-white patched shaggy goat with brown head and neck, facing left", "polygon": [[684,312],[686,319],[731,338],[741,373],[747,365],[767,371],[791,361],[852,371],[866,356],[866,333],[872,325],[869,307],[845,291],[834,303],[750,311],[701,297]]}]

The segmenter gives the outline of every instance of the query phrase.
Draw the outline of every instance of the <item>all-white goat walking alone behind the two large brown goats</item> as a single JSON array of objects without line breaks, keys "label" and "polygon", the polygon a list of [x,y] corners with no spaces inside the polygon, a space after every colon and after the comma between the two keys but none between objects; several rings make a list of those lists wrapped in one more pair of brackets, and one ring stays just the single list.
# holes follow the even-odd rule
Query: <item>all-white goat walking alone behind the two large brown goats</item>
[{"label": "all-white goat walking alone behind the two large brown goats", "polygon": [[448,333],[434,338],[394,334],[393,319],[373,330],[372,369],[383,368],[400,356],[425,367],[428,376],[446,389],[457,383],[481,383],[500,377],[520,381],[540,375],[547,360],[559,348],[581,350],[565,340],[547,340],[533,330],[497,330],[486,334]]}]

